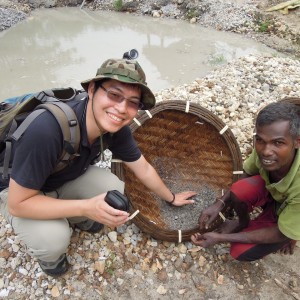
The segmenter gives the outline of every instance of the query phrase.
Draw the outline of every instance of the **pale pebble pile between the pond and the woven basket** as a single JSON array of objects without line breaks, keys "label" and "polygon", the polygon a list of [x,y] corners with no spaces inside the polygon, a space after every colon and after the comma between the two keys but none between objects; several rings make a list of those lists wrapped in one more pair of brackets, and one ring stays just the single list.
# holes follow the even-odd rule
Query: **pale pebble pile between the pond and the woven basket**
[{"label": "pale pebble pile between the pond and the woven basket", "polygon": [[193,101],[233,131],[242,154],[252,145],[253,118],[267,103],[300,96],[300,62],[290,58],[242,57],[191,84],[166,89],[158,100]]}]

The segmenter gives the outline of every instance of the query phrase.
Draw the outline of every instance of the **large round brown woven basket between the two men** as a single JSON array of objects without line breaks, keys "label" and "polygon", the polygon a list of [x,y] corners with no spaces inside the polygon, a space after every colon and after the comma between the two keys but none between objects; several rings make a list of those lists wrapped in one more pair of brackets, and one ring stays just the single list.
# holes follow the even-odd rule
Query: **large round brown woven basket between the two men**
[{"label": "large round brown woven basket between the two men", "polygon": [[[149,113],[141,112],[130,126],[143,155],[173,192],[196,191],[205,186],[221,196],[242,171],[241,153],[231,130],[197,104],[160,102]],[[171,229],[157,196],[122,164],[114,164],[113,171],[125,181],[131,211],[140,210],[133,221],[141,230],[166,241],[190,240],[191,234],[199,232],[196,225],[185,230]],[[184,189],[178,190],[181,187]],[[219,218],[205,231],[215,229],[221,222]]]}]

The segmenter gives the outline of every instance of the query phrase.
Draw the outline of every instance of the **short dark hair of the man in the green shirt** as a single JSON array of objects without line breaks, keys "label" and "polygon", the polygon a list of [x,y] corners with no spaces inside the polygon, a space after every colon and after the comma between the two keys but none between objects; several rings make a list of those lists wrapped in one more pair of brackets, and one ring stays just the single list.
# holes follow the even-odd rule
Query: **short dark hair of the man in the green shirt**
[{"label": "short dark hair of the man in the green shirt", "polygon": [[258,113],[255,126],[265,126],[277,121],[289,121],[291,136],[297,138],[300,135],[300,107],[296,104],[285,101],[268,104]]}]

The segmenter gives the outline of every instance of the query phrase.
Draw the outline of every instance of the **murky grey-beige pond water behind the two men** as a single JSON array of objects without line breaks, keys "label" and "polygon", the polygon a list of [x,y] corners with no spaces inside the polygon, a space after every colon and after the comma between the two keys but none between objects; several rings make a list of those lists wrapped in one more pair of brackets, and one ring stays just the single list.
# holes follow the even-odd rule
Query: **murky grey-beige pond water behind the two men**
[{"label": "murky grey-beige pond water behind the two men", "polygon": [[105,59],[132,48],[155,92],[189,83],[249,53],[278,55],[254,40],[186,21],[42,9],[0,33],[0,99],[50,87],[79,88]]}]

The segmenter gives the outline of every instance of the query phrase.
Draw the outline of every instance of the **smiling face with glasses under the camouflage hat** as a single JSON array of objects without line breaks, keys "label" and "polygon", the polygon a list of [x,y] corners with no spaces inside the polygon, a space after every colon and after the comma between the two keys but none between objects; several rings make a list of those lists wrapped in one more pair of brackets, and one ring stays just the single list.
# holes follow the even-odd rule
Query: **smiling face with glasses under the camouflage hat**
[{"label": "smiling face with glasses under the camouflage hat", "polygon": [[138,86],[109,80],[95,91],[92,82],[88,92],[93,101],[94,117],[102,133],[120,130],[137,114],[141,98]]}]

